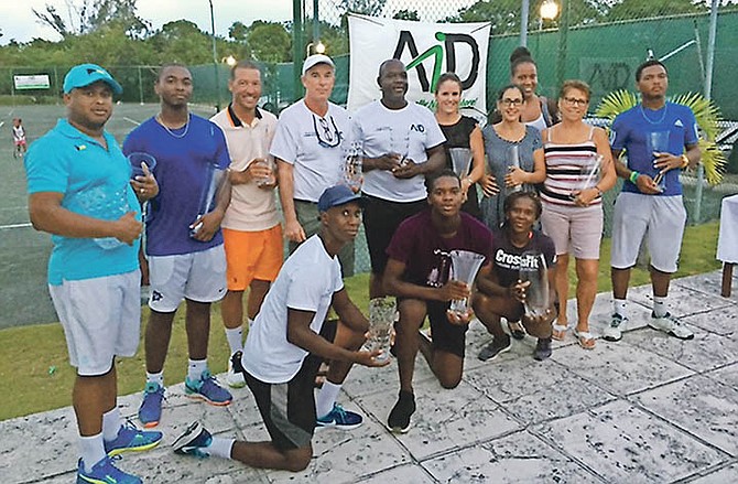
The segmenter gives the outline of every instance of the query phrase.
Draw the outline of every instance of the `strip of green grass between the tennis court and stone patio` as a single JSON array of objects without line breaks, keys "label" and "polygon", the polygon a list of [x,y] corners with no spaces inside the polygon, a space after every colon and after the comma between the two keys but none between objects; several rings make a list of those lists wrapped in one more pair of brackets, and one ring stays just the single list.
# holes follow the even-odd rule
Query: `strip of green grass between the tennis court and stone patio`
[{"label": "strip of green grass between the tennis court and stone patio", "polygon": [[[718,224],[716,222],[687,227],[682,246],[682,260],[676,277],[708,272],[720,267],[715,260]],[[609,291],[610,240],[603,241],[598,277],[598,291]],[[569,280],[575,281],[573,263]],[[631,287],[649,282],[647,270],[637,268],[632,272]],[[361,273],[346,280],[346,289],[354,302],[363,311],[369,305],[369,275]],[[574,294],[574,287],[569,294]],[[142,332],[148,320],[148,309],[142,316]],[[68,365],[66,343],[59,324],[11,327],[0,331],[0,380],[6,390],[0,395],[0,420],[26,416],[70,405],[74,368]],[[169,357],[164,368],[167,384],[184,380],[187,363],[187,344],[184,332],[184,311],[175,318]],[[228,345],[223,331],[220,308],[211,311],[209,365],[214,373],[226,370]],[[132,358],[119,359],[116,364],[120,395],[140,391],[143,387],[145,365],[143,344]]]}]

